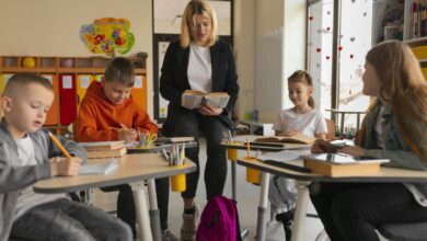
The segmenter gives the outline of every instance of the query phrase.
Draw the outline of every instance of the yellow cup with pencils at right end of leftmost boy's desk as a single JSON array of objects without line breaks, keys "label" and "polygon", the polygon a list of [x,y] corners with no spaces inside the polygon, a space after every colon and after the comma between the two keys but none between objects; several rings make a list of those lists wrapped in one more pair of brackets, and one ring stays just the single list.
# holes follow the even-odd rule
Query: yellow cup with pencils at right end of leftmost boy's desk
[{"label": "yellow cup with pencils at right end of leftmost boy's desk", "polygon": [[[161,153],[170,167],[185,165],[185,144],[172,145],[169,153],[164,149],[162,149]],[[173,192],[182,193],[186,187],[186,175],[184,173],[171,176],[171,188]]]}]

